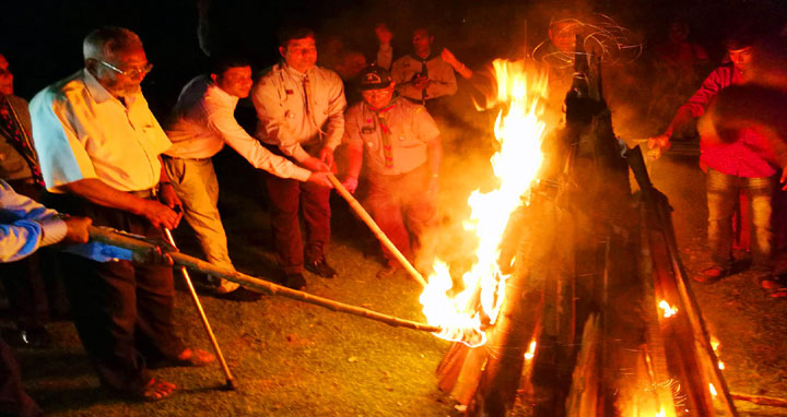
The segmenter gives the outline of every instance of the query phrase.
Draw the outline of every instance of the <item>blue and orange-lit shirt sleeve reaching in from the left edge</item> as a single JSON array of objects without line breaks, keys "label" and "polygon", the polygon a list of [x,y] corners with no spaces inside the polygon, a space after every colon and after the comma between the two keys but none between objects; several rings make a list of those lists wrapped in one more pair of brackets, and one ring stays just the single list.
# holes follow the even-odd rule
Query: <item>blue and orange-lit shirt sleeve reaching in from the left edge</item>
[{"label": "blue and orange-lit shirt sleeve reaching in from the left edge", "polygon": [[66,237],[67,226],[57,215],[32,199],[20,195],[0,181],[0,262],[13,262],[39,247]]}]

